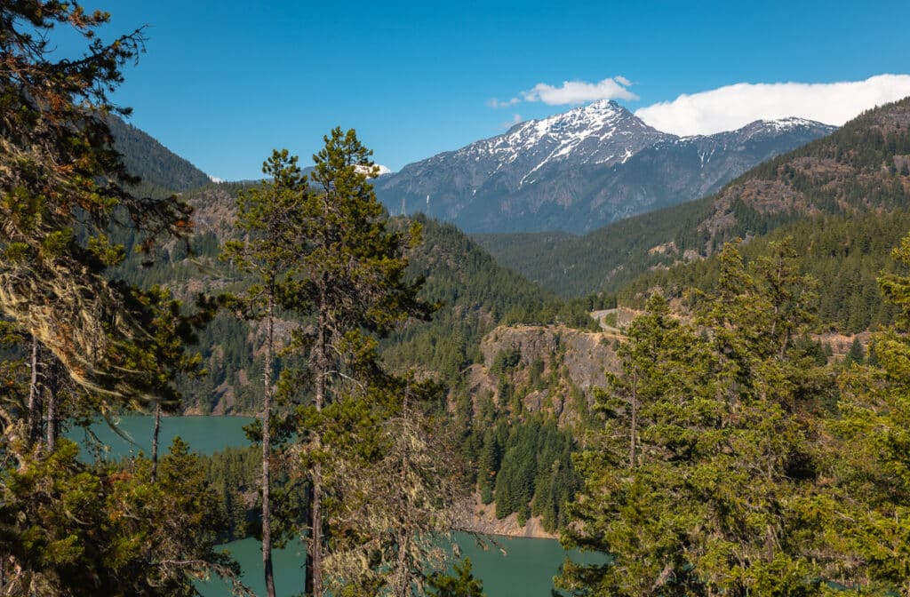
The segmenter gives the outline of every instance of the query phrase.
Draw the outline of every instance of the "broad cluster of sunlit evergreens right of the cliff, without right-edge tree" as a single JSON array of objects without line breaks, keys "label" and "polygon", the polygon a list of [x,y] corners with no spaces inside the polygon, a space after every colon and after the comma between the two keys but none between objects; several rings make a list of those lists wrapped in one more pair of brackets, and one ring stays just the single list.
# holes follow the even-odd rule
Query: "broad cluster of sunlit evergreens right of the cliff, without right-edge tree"
[{"label": "broad cluster of sunlit evergreens right of the cliff, without right-edge tree", "polygon": [[[576,458],[584,486],[566,547],[578,594],[819,594],[834,562],[808,508],[824,374],[793,339],[811,323],[811,280],[781,245],[746,269],[724,248],[698,327],[652,297],[620,349],[622,376],[598,407],[603,429]],[[823,555],[824,554],[824,555]]]}]

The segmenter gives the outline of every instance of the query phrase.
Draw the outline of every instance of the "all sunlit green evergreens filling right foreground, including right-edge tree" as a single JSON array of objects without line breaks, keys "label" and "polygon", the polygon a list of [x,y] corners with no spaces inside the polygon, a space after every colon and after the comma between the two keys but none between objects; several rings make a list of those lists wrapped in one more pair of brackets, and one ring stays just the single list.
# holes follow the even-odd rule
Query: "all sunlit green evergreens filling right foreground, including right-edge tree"
[{"label": "all sunlit green evergreens filling right foreground, including right-edge tree", "polygon": [[902,318],[875,335],[867,364],[862,351],[829,363],[804,341],[818,295],[786,242],[748,265],[726,245],[691,309],[652,295],[573,460],[582,489],[562,541],[612,561],[567,562],[561,587],[905,591],[908,485],[893,475],[906,466],[906,238],[895,258],[900,273],[879,285]]}]

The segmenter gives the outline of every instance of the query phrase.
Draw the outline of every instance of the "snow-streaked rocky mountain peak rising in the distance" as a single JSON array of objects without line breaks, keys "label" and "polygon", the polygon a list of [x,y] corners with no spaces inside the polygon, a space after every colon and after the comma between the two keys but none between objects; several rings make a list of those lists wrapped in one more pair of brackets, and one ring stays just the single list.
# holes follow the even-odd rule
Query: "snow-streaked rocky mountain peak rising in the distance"
[{"label": "snow-streaked rocky mountain peak rising in the distance", "polygon": [[468,232],[581,233],[702,197],[833,130],[790,118],[676,137],[601,101],[410,164],[379,178],[376,191],[392,211],[422,211]]}]

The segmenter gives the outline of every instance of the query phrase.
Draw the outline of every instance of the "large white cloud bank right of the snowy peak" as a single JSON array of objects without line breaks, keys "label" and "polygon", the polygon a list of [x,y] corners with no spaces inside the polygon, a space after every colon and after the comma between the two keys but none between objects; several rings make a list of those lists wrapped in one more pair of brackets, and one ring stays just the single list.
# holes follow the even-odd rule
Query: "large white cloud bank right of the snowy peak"
[{"label": "large white cloud bank right of the snowy peak", "polygon": [[905,96],[910,96],[910,75],[841,83],[738,83],[642,107],[635,116],[675,135],[712,135],[787,116],[840,126],[866,109]]}]

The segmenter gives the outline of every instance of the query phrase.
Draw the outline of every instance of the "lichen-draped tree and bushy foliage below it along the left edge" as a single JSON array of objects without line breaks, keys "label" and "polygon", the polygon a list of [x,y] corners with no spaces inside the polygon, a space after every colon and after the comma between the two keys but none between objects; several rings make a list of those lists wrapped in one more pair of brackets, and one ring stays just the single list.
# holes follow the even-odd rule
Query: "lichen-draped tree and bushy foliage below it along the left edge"
[{"label": "lichen-draped tree and bushy foliage below it along the left edge", "polygon": [[[182,316],[158,319],[176,316],[166,293],[114,268],[125,258],[115,234],[148,249],[185,234],[190,210],[130,190],[107,125],[128,110],[108,95],[144,36],[106,43],[108,20],[73,2],[0,3],[0,310],[31,369],[0,367],[3,594],[190,594],[194,578],[237,572],[212,549],[217,504],[185,444],[154,480],[149,460],[86,465],[59,437],[74,413],[173,397],[192,360],[171,325]],[[81,55],[58,46],[67,33],[85,41]]]}]

